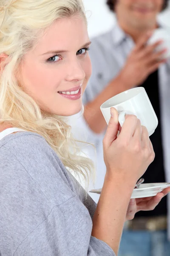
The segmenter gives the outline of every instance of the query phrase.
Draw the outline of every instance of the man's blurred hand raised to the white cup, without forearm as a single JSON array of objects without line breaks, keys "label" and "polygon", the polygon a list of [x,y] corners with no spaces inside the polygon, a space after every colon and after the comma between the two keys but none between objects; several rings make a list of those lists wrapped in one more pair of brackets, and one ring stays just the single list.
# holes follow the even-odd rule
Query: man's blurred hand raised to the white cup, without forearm
[{"label": "man's blurred hand raised to the white cup, without forearm", "polygon": [[159,40],[155,44],[147,45],[150,35],[147,33],[139,39],[119,74],[126,90],[142,84],[151,73],[159,68],[161,63],[166,62],[166,59],[162,59],[166,49],[156,51],[156,47],[162,41]]}]

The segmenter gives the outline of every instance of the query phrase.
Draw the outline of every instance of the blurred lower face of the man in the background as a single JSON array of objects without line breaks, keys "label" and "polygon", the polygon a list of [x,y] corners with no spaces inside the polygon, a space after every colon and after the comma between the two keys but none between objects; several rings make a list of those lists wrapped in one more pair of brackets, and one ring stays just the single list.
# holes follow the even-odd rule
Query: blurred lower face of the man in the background
[{"label": "blurred lower face of the man in the background", "polygon": [[164,0],[118,0],[116,14],[121,23],[145,29],[155,24],[163,4]]}]

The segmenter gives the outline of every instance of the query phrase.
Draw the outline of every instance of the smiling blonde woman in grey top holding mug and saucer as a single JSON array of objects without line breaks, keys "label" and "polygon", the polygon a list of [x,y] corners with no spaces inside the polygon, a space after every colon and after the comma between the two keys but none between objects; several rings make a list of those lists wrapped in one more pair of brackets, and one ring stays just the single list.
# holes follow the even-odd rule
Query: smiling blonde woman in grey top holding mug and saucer
[{"label": "smiling blonde woman in grey top holding mug and saucer", "polygon": [[64,117],[82,109],[90,44],[81,0],[0,1],[2,256],[117,255],[125,220],[169,192],[130,201],[154,152],[135,116],[116,137],[115,109],[97,207],[66,169],[87,177],[91,168]]}]

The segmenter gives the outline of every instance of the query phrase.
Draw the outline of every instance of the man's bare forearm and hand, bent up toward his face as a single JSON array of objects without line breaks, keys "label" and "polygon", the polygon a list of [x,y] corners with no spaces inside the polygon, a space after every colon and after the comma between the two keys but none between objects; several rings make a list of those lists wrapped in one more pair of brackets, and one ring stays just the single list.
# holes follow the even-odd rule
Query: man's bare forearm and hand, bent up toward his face
[{"label": "man's bare forearm and hand, bent up toward his face", "polygon": [[150,34],[146,34],[140,38],[119,75],[93,101],[85,105],[84,119],[94,133],[100,134],[106,129],[106,122],[100,111],[102,103],[118,93],[142,84],[150,73],[166,61],[161,59],[165,49],[160,52],[154,51],[162,42],[147,46],[149,37]]}]

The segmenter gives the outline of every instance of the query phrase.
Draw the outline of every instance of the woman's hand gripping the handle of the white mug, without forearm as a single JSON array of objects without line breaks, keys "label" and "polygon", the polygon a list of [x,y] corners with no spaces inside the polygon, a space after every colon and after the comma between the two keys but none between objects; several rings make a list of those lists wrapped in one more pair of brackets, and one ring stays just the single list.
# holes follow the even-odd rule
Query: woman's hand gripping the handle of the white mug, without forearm
[{"label": "woman's hand gripping the handle of the white mug, without forearm", "polygon": [[[155,154],[147,128],[134,115],[126,115],[119,136],[118,113],[111,108],[111,119],[103,140],[106,176],[111,180],[135,186],[142,177]],[[120,184],[123,186],[123,184]]]}]

